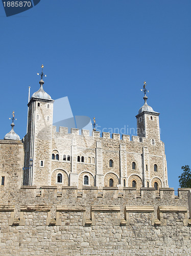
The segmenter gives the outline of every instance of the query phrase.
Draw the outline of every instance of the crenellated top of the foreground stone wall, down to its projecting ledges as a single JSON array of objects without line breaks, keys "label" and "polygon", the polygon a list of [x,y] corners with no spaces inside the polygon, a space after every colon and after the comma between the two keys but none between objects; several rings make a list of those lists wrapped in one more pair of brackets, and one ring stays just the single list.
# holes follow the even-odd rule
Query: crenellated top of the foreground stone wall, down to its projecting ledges
[{"label": "crenellated top of the foreground stone wall, down to its projecting ledges", "polygon": [[[96,225],[97,214],[108,212],[115,216],[115,225],[128,225],[132,214],[149,214],[151,225],[166,225],[166,214],[181,214],[184,226],[189,226],[188,210],[191,205],[191,190],[179,188],[178,196],[173,188],[161,188],[159,195],[154,188],[142,187],[137,191],[133,187],[62,187],[21,186],[17,194],[19,200],[11,200],[0,205],[1,212],[10,212],[8,225],[26,225],[31,218],[28,212],[45,212],[46,225],[62,225],[62,212],[71,216],[78,213],[83,226]],[[3,200],[4,201],[4,200]],[[188,209],[189,208],[189,209]],[[189,212],[191,216],[191,212]],[[169,218],[169,217],[168,217]]]}]

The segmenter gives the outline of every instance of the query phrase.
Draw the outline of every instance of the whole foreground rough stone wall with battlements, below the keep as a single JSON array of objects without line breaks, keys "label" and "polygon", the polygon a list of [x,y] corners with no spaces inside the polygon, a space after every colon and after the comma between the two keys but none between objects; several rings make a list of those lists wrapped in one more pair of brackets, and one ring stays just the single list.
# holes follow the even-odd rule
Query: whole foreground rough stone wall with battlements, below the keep
[{"label": "whole foreground rough stone wall with battlements, below the keep", "polygon": [[[133,255],[154,255],[156,250],[158,255],[190,254],[191,229],[185,222],[188,189],[179,189],[179,197],[171,188],[160,189],[159,196],[153,188],[142,188],[141,194],[136,188],[116,187],[105,188],[102,195],[98,192],[94,187],[83,188],[82,194],[75,187],[62,187],[60,194],[56,187],[42,186],[40,195],[39,189],[23,186],[15,198],[0,196],[2,205],[18,206],[14,212],[9,211],[10,206],[0,206],[1,254],[81,256],[108,250],[115,255],[109,252],[114,249],[119,249],[116,255],[124,255],[122,249],[134,250],[129,252]],[[169,211],[159,220],[157,209],[163,205]],[[132,209],[128,217],[126,206]],[[153,211],[141,212],[142,206]],[[170,211],[173,207],[174,212]],[[158,222],[154,224],[153,219]]]}]

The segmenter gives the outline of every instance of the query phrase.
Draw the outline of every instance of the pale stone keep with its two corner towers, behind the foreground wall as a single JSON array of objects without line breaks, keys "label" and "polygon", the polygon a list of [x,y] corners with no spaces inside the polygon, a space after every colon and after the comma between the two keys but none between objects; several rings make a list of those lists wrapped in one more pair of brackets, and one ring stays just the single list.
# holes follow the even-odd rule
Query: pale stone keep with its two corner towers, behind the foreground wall
[{"label": "pale stone keep with its two corner towers, behind the foreground wall", "polygon": [[[143,110],[136,116],[138,136],[53,126],[54,100],[32,97],[29,104],[25,166],[33,160],[23,185],[168,187],[159,113]],[[147,102],[144,106],[148,106]]]}]

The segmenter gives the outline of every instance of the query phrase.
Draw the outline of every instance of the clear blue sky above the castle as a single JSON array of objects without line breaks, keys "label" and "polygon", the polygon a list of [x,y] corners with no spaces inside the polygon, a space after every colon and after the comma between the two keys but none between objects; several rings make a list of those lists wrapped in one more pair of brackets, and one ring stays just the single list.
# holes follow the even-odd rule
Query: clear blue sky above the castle
[{"label": "clear blue sky above the castle", "polygon": [[74,115],[96,116],[102,129],[136,129],[146,80],[177,189],[181,166],[191,166],[190,0],[41,0],[15,16],[3,4],[0,12],[1,139],[13,110],[25,136],[28,87],[38,90],[42,63],[44,90],[68,96]]}]

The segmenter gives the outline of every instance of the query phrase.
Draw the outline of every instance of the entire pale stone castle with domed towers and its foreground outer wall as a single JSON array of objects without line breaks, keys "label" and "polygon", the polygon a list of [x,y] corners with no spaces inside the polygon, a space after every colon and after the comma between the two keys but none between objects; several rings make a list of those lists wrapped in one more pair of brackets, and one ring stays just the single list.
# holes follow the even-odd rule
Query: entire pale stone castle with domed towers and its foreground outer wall
[{"label": "entire pale stone castle with domed towers and its foreground outer wall", "polygon": [[28,103],[26,136],[21,141],[12,122],[0,140],[1,254],[191,253],[191,190],[175,196],[169,188],[159,113],[147,104],[146,84],[138,136],[130,140],[96,129],[57,132],[42,77]]}]

